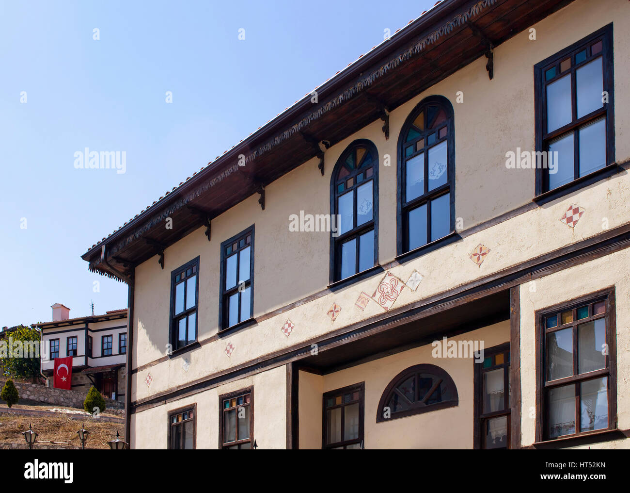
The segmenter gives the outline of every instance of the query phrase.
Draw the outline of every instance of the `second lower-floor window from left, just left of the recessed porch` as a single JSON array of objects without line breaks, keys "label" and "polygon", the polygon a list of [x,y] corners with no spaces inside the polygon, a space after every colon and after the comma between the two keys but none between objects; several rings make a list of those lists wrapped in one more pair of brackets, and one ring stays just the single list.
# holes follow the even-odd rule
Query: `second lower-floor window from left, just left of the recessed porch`
[{"label": "second lower-floor window from left, just left of the recessed porch", "polygon": [[219,446],[251,449],[254,442],[254,389],[219,396]]}]

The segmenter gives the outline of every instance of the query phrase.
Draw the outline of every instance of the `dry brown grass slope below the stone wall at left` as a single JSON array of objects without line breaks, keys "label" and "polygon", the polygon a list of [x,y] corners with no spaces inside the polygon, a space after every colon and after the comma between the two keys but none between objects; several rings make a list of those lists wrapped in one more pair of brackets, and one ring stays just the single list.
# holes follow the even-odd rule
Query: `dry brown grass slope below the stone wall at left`
[{"label": "dry brown grass slope below the stone wall at left", "polygon": [[[35,408],[37,409],[37,406]],[[64,442],[81,446],[77,435],[81,421],[71,419],[62,413],[59,413],[59,416],[0,415],[0,443],[23,443],[22,432],[28,430],[29,424],[33,426],[33,431],[38,433],[37,441]],[[89,431],[86,448],[108,449],[107,442],[116,438],[117,431],[120,432],[120,439],[123,439],[125,434],[125,426],[122,423],[108,423],[88,418],[84,426]]]}]

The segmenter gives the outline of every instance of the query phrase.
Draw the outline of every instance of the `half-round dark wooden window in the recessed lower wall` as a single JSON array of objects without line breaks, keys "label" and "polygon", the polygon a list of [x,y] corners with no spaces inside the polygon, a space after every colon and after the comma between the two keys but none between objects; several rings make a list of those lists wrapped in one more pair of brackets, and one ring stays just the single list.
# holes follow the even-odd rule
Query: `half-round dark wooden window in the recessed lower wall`
[{"label": "half-round dark wooden window in the recessed lower wall", "polygon": [[457,387],[448,373],[434,364],[416,364],[389,382],[379,402],[376,422],[445,409],[458,403]]}]

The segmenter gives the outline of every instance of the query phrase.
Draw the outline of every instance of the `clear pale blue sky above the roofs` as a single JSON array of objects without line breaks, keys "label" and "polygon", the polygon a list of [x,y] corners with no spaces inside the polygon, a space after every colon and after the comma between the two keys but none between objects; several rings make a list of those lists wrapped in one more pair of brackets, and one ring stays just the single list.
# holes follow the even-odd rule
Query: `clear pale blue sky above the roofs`
[{"label": "clear pale blue sky above the roofs", "polygon": [[[0,327],[127,306],[93,243],[433,4],[0,1]],[[126,173],[75,169],[86,147]]]}]

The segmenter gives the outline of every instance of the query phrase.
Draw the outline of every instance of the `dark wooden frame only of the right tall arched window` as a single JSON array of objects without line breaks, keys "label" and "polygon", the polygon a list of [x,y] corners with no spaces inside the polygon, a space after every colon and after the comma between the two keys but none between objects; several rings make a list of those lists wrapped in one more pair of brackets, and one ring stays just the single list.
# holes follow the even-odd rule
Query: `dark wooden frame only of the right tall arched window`
[{"label": "dark wooden frame only of the right tall arched window", "polygon": [[[431,145],[431,147],[436,146],[442,141],[447,141],[447,182],[445,185],[442,185],[435,190],[428,191],[428,146],[423,148],[423,151],[415,151],[410,156],[404,155],[404,148],[409,144],[404,142],[404,138],[407,136],[407,133],[410,130],[413,121],[418,117],[420,112],[425,111],[429,105],[438,105],[444,109],[447,117],[447,134],[442,139],[436,139],[435,142]],[[437,131],[437,129],[433,130]],[[431,131],[425,130],[420,137],[417,137],[415,140],[419,140],[420,138],[426,139],[428,134],[431,134]],[[416,155],[424,152],[425,153],[425,194],[420,195],[420,197],[416,197],[415,199],[406,202],[405,190],[406,190],[406,161],[415,157]],[[396,252],[397,257],[396,260],[410,260],[411,258],[418,257],[423,253],[431,252],[436,248],[440,248],[441,246],[447,245],[448,243],[457,240],[457,235],[455,233],[455,117],[453,105],[450,101],[444,96],[428,96],[424,98],[415,108],[411,111],[407,119],[404,121],[403,127],[401,129],[400,135],[398,137],[398,170],[397,170],[397,207],[396,207],[396,216],[398,217],[398,221],[396,221]],[[449,193],[449,206],[450,206],[450,224],[449,231],[450,233],[442,238],[437,238],[436,240],[431,241],[431,200],[437,199],[438,197]],[[416,207],[420,207],[423,204],[427,204],[427,241],[425,245],[420,245],[413,250],[409,250],[409,238],[408,238],[408,214],[411,210],[416,209]]]}]

